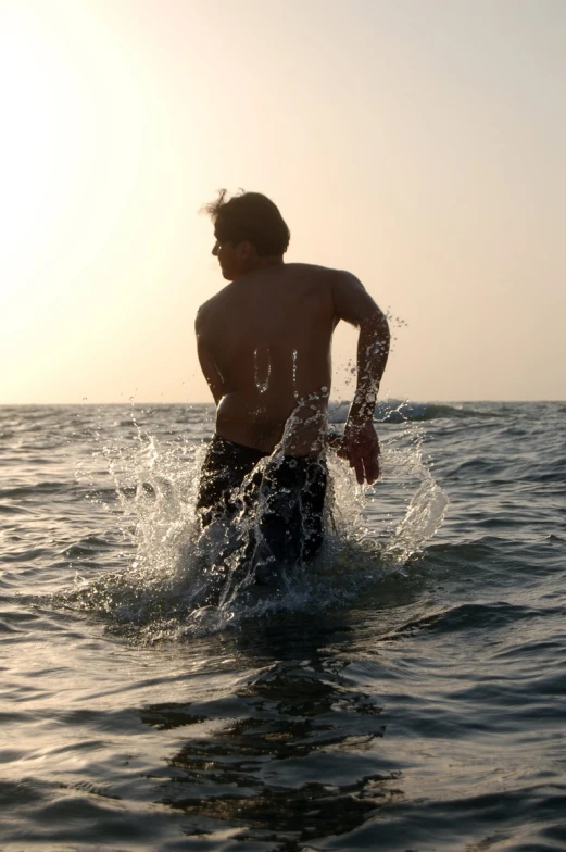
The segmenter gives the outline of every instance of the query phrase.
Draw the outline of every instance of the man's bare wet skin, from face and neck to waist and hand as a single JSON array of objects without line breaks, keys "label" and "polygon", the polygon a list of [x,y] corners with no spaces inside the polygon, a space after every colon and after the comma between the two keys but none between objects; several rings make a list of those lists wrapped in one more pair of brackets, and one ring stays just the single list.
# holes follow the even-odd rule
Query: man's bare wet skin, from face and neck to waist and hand
[{"label": "man's bare wet skin, from face and neck to waist and hand", "polygon": [[[368,350],[362,352],[362,363],[359,358],[364,373],[359,380],[369,402],[354,402],[341,449],[359,481],[374,481],[379,446],[372,416],[389,346],[387,321],[374,300],[349,273],[259,258],[247,241],[216,245],[213,253],[230,284],[201,306],[196,330],[217,405],[216,431],[262,452],[272,452],[282,439],[287,454],[319,454],[331,338],[344,320],[361,329],[362,349]],[[382,347],[377,355],[372,351],[376,344]]]}]

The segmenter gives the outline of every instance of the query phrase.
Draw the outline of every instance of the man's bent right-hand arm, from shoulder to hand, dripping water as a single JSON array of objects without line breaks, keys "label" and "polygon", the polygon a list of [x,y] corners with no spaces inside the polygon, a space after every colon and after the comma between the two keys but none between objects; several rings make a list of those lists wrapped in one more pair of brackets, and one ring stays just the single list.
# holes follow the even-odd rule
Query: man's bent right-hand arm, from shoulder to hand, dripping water
[{"label": "man's bent right-hand arm, from shoulder to hand, dripping water", "polygon": [[336,316],[360,329],[357,383],[344,428],[342,454],[354,467],[359,484],[372,484],[379,476],[379,442],[373,421],[389,355],[389,325],[383,312],[350,273],[336,274],[332,296]]}]

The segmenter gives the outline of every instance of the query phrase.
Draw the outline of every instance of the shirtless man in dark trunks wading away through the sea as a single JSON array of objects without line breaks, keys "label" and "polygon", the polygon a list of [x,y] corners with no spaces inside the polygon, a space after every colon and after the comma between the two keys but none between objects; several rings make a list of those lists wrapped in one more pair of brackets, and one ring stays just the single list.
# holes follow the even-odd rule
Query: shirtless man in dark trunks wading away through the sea
[{"label": "shirtless man in dark trunks wading away through the sea", "polygon": [[323,543],[330,344],[340,320],[356,326],[360,338],[357,388],[338,452],[361,485],[378,478],[373,416],[389,328],[350,273],[284,262],[290,233],[265,196],[227,200],[222,190],[205,210],[214,223],[212,253],[229,284],[196,322],[216,403],[197,506],[207,526],[261,503],[254,543],[261,581],[266,565],[309,562]]}]

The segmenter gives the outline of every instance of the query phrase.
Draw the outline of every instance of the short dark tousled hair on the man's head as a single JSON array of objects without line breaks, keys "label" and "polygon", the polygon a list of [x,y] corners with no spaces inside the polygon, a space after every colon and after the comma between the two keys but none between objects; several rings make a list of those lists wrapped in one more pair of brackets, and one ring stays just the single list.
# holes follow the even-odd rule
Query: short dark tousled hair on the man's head
[{"label": "short dark tousled hair on the man's head", "polygon": [[285,254],[291,234],[279,209],[261,192],[243,192],[226,201],[226,189],[203,208],[214,223],[218,242],[249,240],[261,258]]}]

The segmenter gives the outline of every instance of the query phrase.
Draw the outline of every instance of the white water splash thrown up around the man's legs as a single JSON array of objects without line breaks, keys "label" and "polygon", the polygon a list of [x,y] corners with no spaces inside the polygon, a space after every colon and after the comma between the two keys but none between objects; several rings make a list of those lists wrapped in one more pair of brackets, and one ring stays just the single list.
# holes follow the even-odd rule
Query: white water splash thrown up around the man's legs
[{"label": "white water splash thrown up around the man's legs", "polygon": [[[318,403],[307,401],[317,427]],[[281,459],[289,435],[305,422],[304,412],[298,422],[291,418],[284,440],[260,466]],[[328,453],[323,551],[307,569],[284,574],[277,589],[266,593],[254,585],[246,559],[256,515],[242,512],[230,524],[214,523],[199,534],[194,504],[205,446],[160,440],[133,423],[136,441],[106,441],[95,458],[97,465],[105,463],[113,523],[134,544],[135,556],[125,554],[125,567],[102,577],[77,577],[59,602],[104,615],[110,629],[136,641],[214,632],[275,609],[348,604],[368,582],[404,572],[442,523],[446,499],[423,460],[420,427],[390,427],[381,438],[382,478],[375,487],[357,486],[348,464]],[[108,494],[97,497],[95,489],[91,499],[108,500]]]}]

